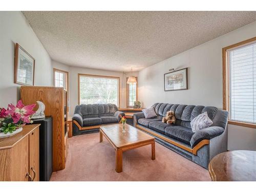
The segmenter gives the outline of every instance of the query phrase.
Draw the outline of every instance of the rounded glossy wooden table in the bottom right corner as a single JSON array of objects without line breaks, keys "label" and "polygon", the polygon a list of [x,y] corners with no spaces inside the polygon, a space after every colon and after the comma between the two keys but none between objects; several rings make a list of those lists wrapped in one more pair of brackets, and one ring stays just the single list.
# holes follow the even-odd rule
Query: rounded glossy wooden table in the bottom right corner
[{"label": "rounded glossy wooden table in the bottom right corner", "polygon": [[221,153],[212,158],[208,170],[212,181],[256,181],[256,152]]}]

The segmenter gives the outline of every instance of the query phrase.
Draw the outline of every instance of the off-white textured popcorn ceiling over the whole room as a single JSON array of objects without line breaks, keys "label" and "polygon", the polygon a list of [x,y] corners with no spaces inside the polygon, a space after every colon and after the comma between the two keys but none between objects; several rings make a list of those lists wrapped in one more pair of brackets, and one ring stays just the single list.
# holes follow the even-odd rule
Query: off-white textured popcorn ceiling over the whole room
[{"label": "off-white textured popcorn ceiling over the whole room", "polygon": [[53,60],[141,70],[256,20],[255,11],[25,11]]}]

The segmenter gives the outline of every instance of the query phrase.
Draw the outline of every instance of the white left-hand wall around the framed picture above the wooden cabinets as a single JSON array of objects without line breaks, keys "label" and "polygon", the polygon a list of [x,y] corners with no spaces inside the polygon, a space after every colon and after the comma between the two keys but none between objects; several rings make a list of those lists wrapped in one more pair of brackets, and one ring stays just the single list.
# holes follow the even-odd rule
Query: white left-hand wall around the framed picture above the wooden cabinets
[{"label": "white left-hand wall around the framed picture above the wooden cabinets", "polygon": [[35,58],[35,86],[53,86],[51,58],[21,12],[0,12],[0,107],[16,103],[19,85],[14,83],[14,46],[17,42]]}]

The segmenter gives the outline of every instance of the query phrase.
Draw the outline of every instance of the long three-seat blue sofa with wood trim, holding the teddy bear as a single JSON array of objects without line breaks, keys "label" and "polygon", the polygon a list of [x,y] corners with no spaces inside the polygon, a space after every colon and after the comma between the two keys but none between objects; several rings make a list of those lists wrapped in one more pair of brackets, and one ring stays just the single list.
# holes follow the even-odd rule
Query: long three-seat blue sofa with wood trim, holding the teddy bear
[{"label": "long three-seat blue sofa with wood trim, holding the teddy bear", "polygon": [[[155,103],[157,117],[146,119],[143,113],[134,114],[134,126],[155,136],[156,141],[187,159],[208,168],[209,161],[227,151],[228,112],[213,106]],[[167,111],[174,111],[175,124],[163,123]],[[190,121],[207,112],[213,124],[192,132]]]}]

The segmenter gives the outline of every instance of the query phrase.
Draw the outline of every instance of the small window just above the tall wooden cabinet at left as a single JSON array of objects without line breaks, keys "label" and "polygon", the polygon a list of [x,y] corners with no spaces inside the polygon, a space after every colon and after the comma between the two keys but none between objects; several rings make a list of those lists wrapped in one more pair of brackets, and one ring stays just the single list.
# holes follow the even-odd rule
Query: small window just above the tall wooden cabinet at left
[{"label": "small window just above the tall wooden cabinet at left", "polygon": [[61,87],[68,91],[69,73],[58,69],[53,69],[54,87]]}]

